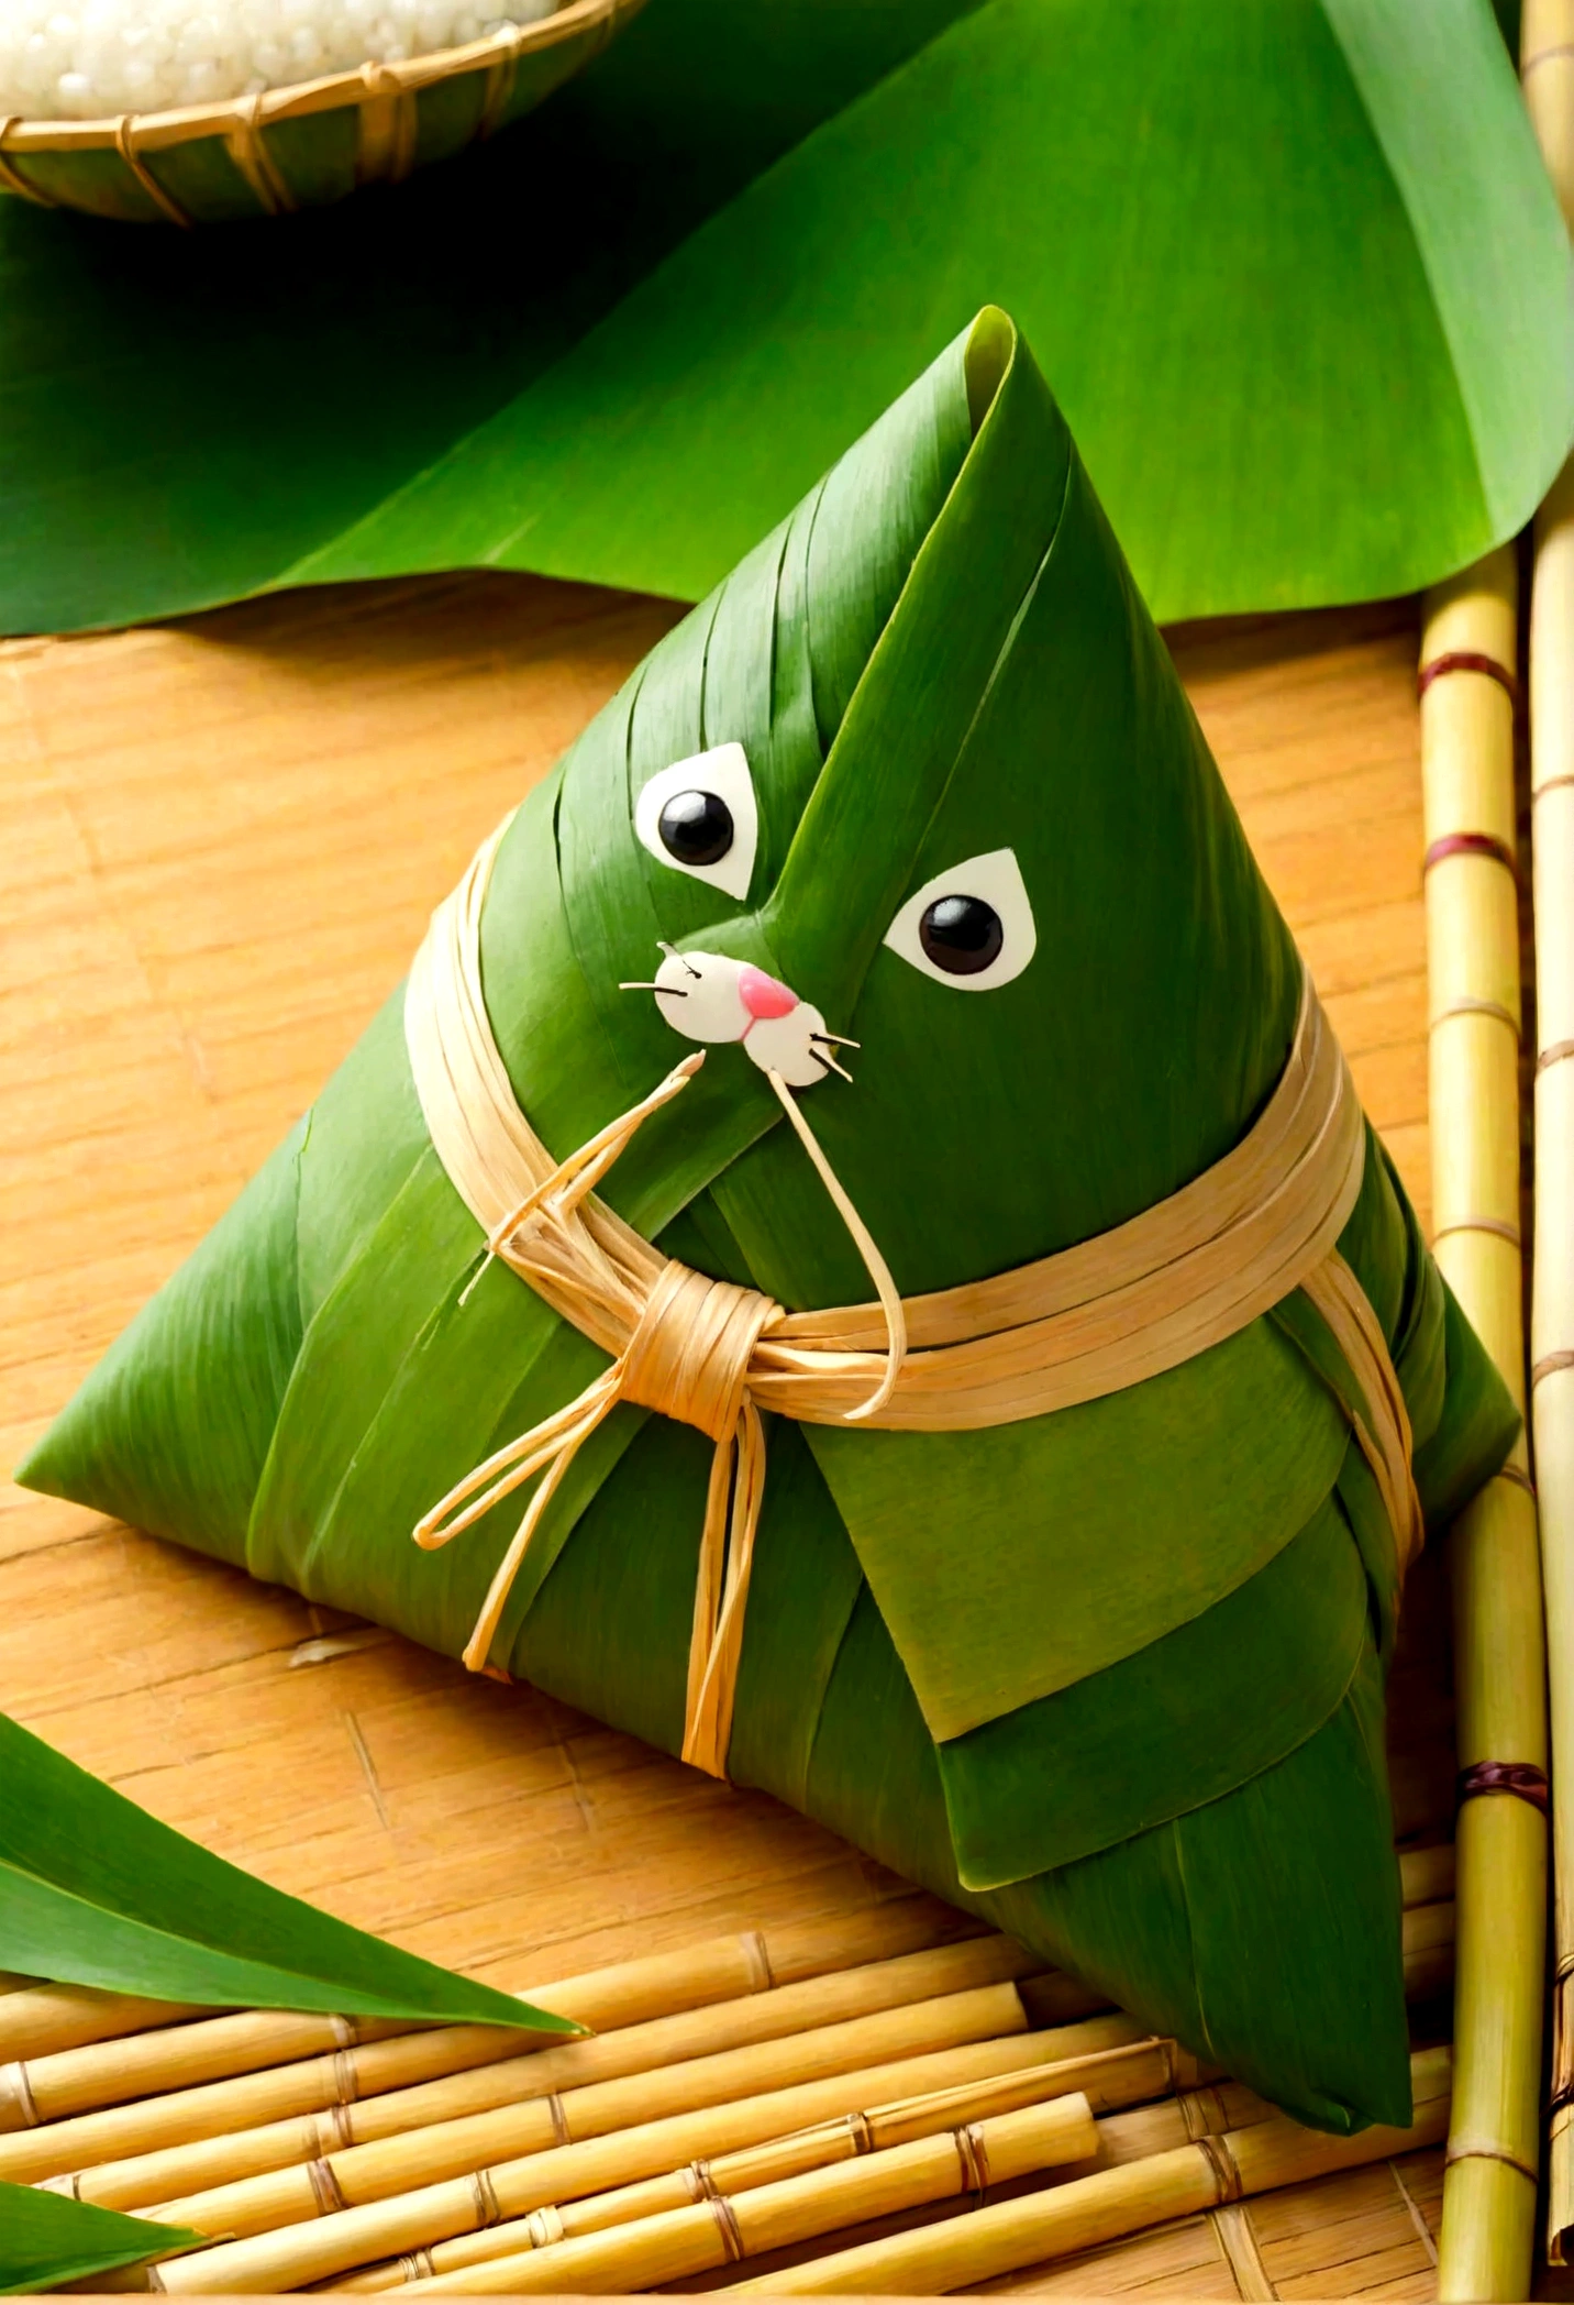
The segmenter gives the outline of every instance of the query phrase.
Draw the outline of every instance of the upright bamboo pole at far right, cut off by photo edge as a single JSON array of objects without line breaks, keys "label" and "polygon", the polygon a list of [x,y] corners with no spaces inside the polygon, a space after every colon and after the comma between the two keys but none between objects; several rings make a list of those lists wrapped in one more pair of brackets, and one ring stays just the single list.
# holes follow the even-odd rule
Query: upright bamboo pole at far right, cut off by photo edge
[{"label": "upright bamboo pole at far right, cut off by photo edge", "polygon": [[[1574,231],[1574,0],[1526,0],[1521,76],[1562,219]],[[1537,1012],[1530,1422],[1556,1856],[1546,2254],[1565,2266],[1574,2234],[1574,459],[1535,523],[1530,823]]]}]

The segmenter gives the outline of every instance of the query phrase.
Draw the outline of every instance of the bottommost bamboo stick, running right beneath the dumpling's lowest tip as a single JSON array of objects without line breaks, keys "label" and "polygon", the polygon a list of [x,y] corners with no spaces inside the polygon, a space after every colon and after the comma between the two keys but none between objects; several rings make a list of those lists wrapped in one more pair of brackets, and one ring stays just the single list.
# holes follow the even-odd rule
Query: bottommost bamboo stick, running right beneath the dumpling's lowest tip
[{"label": "bottommost bamboo stick, running right beneath the dumpling's lowest tip", "polygon": [[[1074,2176],[1019,2201],[975,2208],[945,2224],[867,2240],[832,2257],[735,2282],[726,2293],[940,2296],[947,2289],[975,2289],[1005,2273],[1120,2240],[1150,2224],[1196,2217],[1247,2194],[1438,2144],[1447,2128],[1450,2100],[1420,2098],[1422,2086],[1424,2072],[1417,2074],[1420,2107],[1408,2130],[1378,2128],[1360,2130],[1355,2137],[1325,2137],[1277,2114],[1244,2130]],[[1106,2128],[1108,2123],[1099,2123],[1099,2144]]]}]

